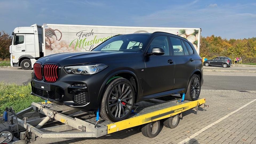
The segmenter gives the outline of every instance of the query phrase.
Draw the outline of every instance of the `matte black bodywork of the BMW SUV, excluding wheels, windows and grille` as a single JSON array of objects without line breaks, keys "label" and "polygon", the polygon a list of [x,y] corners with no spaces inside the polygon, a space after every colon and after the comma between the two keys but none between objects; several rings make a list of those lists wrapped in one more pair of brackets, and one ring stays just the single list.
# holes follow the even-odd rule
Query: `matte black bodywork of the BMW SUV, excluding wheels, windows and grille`
[{"label": "matte black bodywork of the BMW SUV, excluding wheels, windows and grille", "polygon": [[[193,74],[199,75],[201,85],[203,84],[202,58],[197,54],[193,45],[177,35],[155,32],[149,35],[146,43],[139,51],[91,51],[86,53],[60,53],[53,54],[38,59],[36,63],[42,66],[45,64],[56,64],[59,66],[59,78],[56,82],[45,82],[35,79],[32,75],[32,95],[47,99],[35,94],[33,90],[37,83],[58,87],[58,92],[62,92],[60,99],[49,99],[65,105],[75,107],[84,111],[96,111],[101,103],[103,91],[109,79],[113,77],[123,77],[128,79],[135,90],[135,103],[146,99],[163,97],[171,94],[186,93],[188,83]],[[147,56],[146,51],[151,40],[156,36],[168,36],[179,38],[190,43],[194,49],[191,55],[173,55],[171,44],[171,55]],[[171,62],[170,62],[171,60]],[[79,75],[67,74],[64,66],[78,65],[84,63],[104,63],[108,67],[97,74]],[[74,102],[73,94],[70,94],[74,83],[85,83],[86,104]],[[40,88],[39,88],[40,89]],[[46,90],[46,89],[42,89]]]}]

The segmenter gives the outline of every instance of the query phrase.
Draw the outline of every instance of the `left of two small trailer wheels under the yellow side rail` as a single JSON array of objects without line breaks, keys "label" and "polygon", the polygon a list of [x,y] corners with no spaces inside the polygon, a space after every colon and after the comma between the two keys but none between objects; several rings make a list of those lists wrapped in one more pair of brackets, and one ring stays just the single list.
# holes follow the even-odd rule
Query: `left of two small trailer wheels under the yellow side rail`
[{"label": "left of two small trailer wheels under the yellow side rail", "polygon": [[141,128],[141,133],[145,137],[154,138],[160,132],[160,121],[154,121],[151,123],[147,123]]}]

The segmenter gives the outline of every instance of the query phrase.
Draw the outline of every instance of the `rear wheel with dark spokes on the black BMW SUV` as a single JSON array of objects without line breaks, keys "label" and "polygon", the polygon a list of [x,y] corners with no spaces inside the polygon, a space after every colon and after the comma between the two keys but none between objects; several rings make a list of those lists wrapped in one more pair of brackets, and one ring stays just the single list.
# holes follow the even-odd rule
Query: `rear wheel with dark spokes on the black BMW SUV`
[{"label": "rear wheel with dark spokes on the black BMW SUV", "polygon": [[193,74],[189,80],[185,99],[189,101],[195,101],[199,98],[201,92],[201,79],[198,75]]}]

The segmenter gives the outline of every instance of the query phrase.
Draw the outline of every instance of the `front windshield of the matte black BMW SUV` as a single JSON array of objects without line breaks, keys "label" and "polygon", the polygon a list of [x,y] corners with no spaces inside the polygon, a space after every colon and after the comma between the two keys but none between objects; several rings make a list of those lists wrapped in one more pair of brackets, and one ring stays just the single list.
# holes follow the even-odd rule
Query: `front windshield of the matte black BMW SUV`
[{"label": "front windshield of the matte black BMW SUV", "polygon": [[92,51],[140,51],[150,35],[118,35],[101,43]]}]

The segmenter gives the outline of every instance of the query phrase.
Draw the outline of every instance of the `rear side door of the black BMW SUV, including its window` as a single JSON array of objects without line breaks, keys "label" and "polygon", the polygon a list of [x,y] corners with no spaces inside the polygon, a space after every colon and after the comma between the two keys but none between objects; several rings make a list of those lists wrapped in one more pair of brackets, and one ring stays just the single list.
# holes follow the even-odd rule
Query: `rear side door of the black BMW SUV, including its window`
[{"label": "rear side door of the black BMW SUV, including its window", "polygon": [[[170,37],[173,61],[175,62],[174,87],[173,89],[186,88],[192,72],[195,70],[193,55],[188,52],[185,43],[177,38]],[[187,43],[188,44],[188,43]]]}]

